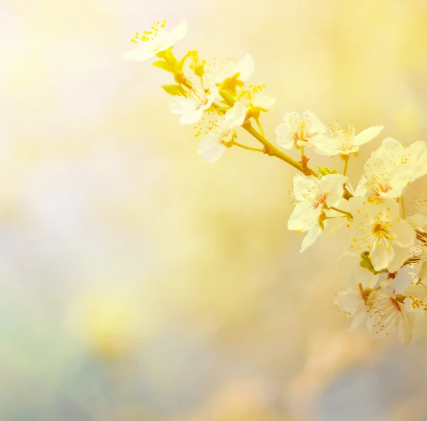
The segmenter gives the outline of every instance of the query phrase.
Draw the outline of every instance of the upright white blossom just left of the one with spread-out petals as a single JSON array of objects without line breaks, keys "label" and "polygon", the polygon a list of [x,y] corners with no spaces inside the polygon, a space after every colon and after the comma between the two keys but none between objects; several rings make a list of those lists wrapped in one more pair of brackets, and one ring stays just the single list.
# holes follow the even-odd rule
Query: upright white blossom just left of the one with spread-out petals
[{"label": "upright white blossom just left of the one with spread-out petals", "polygon": [[275,130],[276,141],[283,149],[312,145],[312,137],[326,131],[326,126],[311,112],[288,113]]}]

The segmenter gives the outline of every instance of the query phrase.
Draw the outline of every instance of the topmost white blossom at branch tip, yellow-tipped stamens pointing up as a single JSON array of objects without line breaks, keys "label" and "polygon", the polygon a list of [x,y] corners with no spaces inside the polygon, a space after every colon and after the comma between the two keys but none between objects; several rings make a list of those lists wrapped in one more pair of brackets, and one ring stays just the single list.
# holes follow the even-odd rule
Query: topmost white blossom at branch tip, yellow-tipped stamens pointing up
[{"label": "topmost white blossom at branch tip, yellow-tipped stamens pointing up", "polygon": [[163,21],[162,24],[157,22],[149,31],[135,33],[135,37],[131,41],[137,43],[138,46],[126,51],[123,58],[132,61],[145,61],[172,47],[177,41],[181,41],[186,36],[187,30],[186,21],[179,22],[172,31],[167,31],[166,21]]}]

